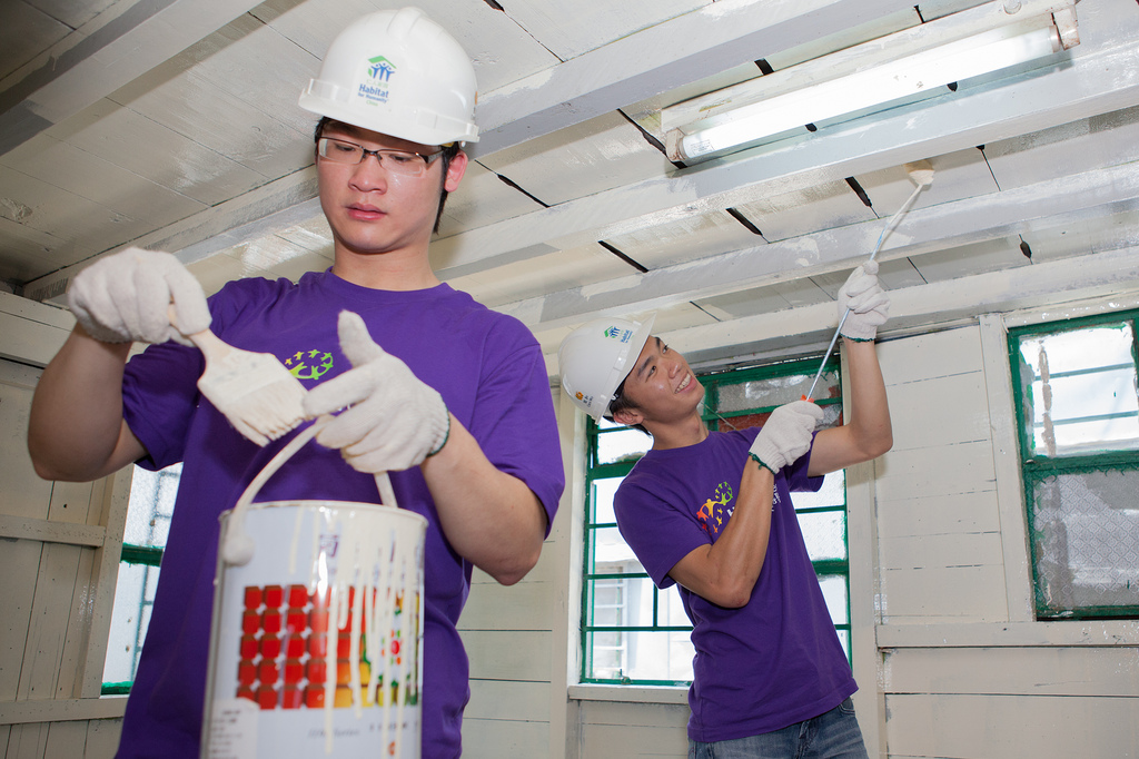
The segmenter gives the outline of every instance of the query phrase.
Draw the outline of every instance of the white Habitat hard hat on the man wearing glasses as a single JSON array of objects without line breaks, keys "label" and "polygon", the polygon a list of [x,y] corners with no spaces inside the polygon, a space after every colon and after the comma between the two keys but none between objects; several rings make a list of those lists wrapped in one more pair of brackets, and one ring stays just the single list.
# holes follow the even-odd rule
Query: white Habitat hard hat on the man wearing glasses
[{"label": "white Habitat hard hat on the man wearing glasses", "polygon": [[301,107],[421,145],[477,142],[475,70],[418,8],[379,10],[341,32]]}]

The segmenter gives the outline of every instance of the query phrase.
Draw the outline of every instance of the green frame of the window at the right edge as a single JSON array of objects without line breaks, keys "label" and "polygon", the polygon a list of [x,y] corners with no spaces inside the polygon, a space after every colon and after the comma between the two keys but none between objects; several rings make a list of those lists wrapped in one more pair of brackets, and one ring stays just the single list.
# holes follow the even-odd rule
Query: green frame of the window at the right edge
[{"label": "green frame of the window at the right edge", "polygon": [[[1105,451],[1099,454],[1080,454],[1071,456],[1040,456],[1031,448],[1030,435],[1025,434],[1025,391],[1022,386],[1017,367],[1021,366],[1021,340],[1034,335],[1060,335],[1080,332],[1104,325],[1131,324],[1131,360],[1132,368],[1139,374],[1139,310],[1112,311],[1095,316],[1077,317],[1063,321],[1040,321],[1023,326],[1009,327],[1006,348],[1013,390],[1013,408],[1016,424],[1016,443],[1018,473],[1021,476],[1021,495],[1024,499],[1024,519],[1027,538],[1027,557],[1031,583],[1032,613],[1036,621],[1063,622],[1088,620],[1134,619],[1139,617],[1139,604],[1129,606],[1082,606],[1075,610],[1054,611],[1043,599],[1041,578],[1036,565],[1040,547],[1038,546],[1035,523],[1035,485],[1049,476],[1087,474],[1108,470],[1139,470],[1139,451]],[[1124,365],[1118,365],[1120,367]],[[1097,372],[1111,367],[1097,367]],[[1052,377],[1071,376],[1072,373],[1051,375]],[[1112,415],[1115,416],[1115,415]],[[1088,419],[1107,417],[1087,417]],[[1065,419],[1067,422],[1067,419]]]}]

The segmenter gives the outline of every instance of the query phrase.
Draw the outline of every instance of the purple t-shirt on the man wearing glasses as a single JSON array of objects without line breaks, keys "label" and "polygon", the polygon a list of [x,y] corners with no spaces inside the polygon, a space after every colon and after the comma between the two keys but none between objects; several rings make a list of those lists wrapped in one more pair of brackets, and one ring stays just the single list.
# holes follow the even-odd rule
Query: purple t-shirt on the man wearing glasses
[{"label": "purple t-shirt on the man wearing glasses", "polygon": [[[312,387],[351,368],[341,352],[337,315],[363,317],[372,338],[442,394],[448,409],[499,470],[519,478],[552,523],[565,483],[549,379],[541,349],[518,320],[466,293],[439,285],[377,291],[331,272],[241,279],[210,299],[211,328],[223,341],[281,359]],[[185,462],[154,614],[131,688],[118,757],[198,756],[221,512],[290,438],[259,448],[196,387],[202,354],[175,343],[149,348],[128,365],[123,416],[146,446],[141,465]],[[443,537],[418,467],[391,475],[402,508],[428,520],[425,557],[425,757],[460,753],[469,697],[467,656],[456,622],[472,564]],[[334,499],[377,503],[375,479],[350,468],[338,450],[308,443],[262,488],[259,501]]]}]

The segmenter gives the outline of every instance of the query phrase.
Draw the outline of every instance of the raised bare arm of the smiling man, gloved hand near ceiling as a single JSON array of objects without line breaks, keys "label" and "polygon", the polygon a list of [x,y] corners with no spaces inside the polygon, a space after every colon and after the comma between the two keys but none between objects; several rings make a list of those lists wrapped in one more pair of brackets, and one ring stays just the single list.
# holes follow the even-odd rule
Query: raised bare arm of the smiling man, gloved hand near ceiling
[{"label": "raised bare arm of the smiling man, gloved hand near ceiling", "polygon": [[841,427],[822,430],[811,449],[810,476],[861,464],[882,456],[893,446],[886,384],[872,342],[843,338],[850,365],[851,408]]}]

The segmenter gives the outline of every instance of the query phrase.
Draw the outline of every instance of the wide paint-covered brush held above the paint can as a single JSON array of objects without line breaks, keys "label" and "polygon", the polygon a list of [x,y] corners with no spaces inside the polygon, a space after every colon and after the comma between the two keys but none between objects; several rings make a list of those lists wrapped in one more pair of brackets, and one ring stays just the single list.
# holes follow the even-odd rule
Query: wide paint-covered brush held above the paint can
[{"label": "wide paint-covered brush held above the paint can", "polygon": [[[177,328],[173,305],[169,316]],[[304,385],[277,357],[233,348],[208,329],[186,336],[206,360],[198,390],[243,435],[264,446],[304,418]]]}]

